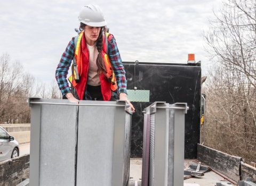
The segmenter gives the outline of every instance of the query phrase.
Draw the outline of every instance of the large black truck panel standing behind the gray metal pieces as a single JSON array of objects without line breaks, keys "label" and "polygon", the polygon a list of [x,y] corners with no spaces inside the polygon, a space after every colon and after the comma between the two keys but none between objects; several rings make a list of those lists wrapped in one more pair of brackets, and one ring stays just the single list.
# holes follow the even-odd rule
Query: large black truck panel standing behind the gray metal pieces
[{"label": "large black truck panel standing behind the gray metal pieces", "polygon": [[142,157],[143,109],[154,102],[166,102],[188,104],[189,111],[185,116],[185,158],[196,158],[200,140],[200,64],[123,62],[123,65],[128,90],[134,90],[134,87],[137,90],[149,90],[149,102],[131,102],[136,109],[132,116],[131,157]]}]

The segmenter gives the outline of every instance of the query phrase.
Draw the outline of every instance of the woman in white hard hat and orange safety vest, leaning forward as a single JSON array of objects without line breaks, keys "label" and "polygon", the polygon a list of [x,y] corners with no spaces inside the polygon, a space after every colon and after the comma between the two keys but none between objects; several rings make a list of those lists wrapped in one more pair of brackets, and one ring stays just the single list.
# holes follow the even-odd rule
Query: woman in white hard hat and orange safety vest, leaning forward
[{"label": "woman in white hard hat and orange safety vest, leaning forward", "polygon": [[[97,5],[87,5],[80,11],[78,20],[81,22],[81,33],[69,42],[55,74],[62,95],[78,104],[79,100],[115,101],[114,92],[117,91],[119,99],[126,100],[134,112],[135,109],[126,96],[121,56],[115,38],[106,33],[107,22],[102,10]],[[75,87],[75,97],[67,81],[73,59],[77,69],[75,64],[75,72],[69,80]]]}]

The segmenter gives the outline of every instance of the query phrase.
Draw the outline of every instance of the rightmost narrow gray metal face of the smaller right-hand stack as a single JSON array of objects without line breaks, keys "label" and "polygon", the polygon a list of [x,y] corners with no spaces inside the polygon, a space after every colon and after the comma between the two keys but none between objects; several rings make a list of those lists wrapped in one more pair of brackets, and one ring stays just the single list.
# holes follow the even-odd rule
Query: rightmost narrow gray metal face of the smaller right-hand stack
[{"label": "rightmost narrow gray metal face of the smaller right-hand stack", "polygon": [[185,115],[181,109],[174,111],[174,173],[173,185],[183,185],[185,144]]}]

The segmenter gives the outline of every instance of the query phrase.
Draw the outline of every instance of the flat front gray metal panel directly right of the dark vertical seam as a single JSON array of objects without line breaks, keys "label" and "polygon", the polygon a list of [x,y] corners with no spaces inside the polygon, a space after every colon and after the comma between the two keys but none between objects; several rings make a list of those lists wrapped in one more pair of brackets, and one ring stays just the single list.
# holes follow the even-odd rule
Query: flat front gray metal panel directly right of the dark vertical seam
[{"label": "flat front gray metal panel directly right of the dark vertical seam", "polygon": [[79,104],[106,104],[106,107],[79,106],[76,185],[111,185],[116,107],[107,106],[113,102]]}]

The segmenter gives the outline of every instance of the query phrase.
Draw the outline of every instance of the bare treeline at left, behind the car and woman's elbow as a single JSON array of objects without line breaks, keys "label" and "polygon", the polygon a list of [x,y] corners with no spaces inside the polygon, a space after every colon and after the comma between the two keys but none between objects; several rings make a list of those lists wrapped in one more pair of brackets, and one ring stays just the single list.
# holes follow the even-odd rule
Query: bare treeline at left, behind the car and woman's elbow
[{"label": "bare treeline at left, behind the car and woman's elbow", "polygon": [[30,123],[28,97],[61,98],[56,81],[49,85],[36,80],[11,56],[0,56],[0,123]]}]

